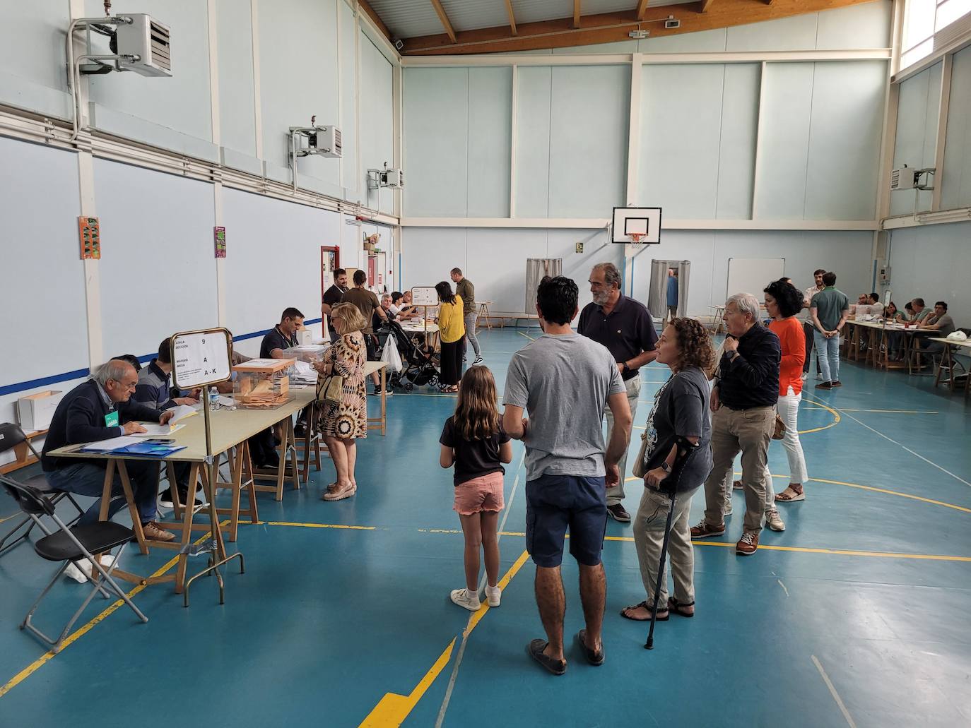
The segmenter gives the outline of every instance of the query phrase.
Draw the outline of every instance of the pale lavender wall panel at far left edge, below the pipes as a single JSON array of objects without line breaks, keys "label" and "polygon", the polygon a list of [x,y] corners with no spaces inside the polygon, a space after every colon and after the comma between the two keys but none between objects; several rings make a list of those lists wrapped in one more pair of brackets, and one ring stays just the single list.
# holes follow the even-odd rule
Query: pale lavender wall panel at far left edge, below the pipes
[{"label": "pale lavender wall panel at far left edge, below the pipes", "polygon": [[[0,367],[3,387],[82,369],[88,354],[78,158],[0,137],[0,160],[5,302],[0,338],[11,345],[4,347]],[[27,355],[16,356],[13,343],[23,342],[28,311],[30,325],[44,333],[29,336]]]}]

